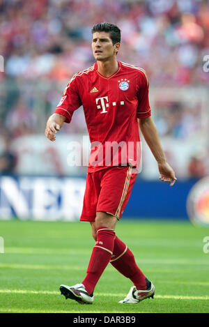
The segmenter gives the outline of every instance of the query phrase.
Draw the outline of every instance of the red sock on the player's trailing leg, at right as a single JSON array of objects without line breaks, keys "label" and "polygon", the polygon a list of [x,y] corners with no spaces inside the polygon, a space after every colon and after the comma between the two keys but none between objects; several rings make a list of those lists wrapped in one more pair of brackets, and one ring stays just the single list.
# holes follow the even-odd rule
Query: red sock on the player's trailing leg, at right
[{"label": "red sock on the player's trailing leg, at right", "polygon": [[147,289],[146,276],[137,266],[134,254],[132,254],[130,249],[117,236],[110,263],[119,273],[130,278],[137,289]]}]

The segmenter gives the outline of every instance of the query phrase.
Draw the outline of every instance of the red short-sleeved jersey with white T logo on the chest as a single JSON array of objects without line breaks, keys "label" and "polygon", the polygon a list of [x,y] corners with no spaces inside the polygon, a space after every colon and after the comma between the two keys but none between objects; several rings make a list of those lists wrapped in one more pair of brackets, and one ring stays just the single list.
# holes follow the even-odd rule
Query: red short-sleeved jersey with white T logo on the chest
[{"label": "red short-sleeved jersey with white T logo on the chest", "polygon": [[117,165],[139,165],[137,118],[150,116],[148,79],[143,69],[118,61],[109,77],[98,64],[75,74],[68,83],[55,113],[70,123],[80,106],[91,141],[88,172]]}]

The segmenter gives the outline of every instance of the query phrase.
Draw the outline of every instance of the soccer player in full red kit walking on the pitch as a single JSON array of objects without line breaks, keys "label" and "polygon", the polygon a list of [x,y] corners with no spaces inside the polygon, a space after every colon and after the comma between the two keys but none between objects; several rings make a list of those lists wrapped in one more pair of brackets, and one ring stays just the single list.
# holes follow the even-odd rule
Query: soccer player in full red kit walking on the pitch
[{"label": "soccer player in full red kit walking on the pitch", "polygon": [[[65,298],[80,303],[93,303],[93,290],[109,262],[133,283],[120,303],[139,303],[155,294],[153,282],[142,273],[131,250],[115,234],[116,222],[121,219],[137,177],[134,172],[139,167],[139,128],[157,160],[160,180],[171,186],[176,181],[150,116],[146,73],[116,60],[120,45],[118,26],[106,22],[93,26],[96,62],[72,77],[45,130],[48,139],[54,141],[63,123],[70,123],[73,112],[83,105],[91,144],[98,145],[91,149],[80,218],[91,223],[96,243],[84,280],[71,287],[60,287]],[[113,142],[120,146],[118,153],[109,156],[107,145]],[[131,151],[125,151],[129,144],[133,145]],[[114,161],[116,154],[118,161]]]}]

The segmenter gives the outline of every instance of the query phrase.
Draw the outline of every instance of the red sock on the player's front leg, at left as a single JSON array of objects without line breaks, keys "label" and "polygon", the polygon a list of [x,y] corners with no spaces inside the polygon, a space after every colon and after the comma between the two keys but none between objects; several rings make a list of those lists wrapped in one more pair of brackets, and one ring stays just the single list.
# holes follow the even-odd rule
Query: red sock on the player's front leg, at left
[{"label": "red sock on the player's front leg, at left", "polygon": [[100,276],[107,267],[114,249],[115,232],[107,227],[97,229],[97,241],[91,253],[84,284],[88,294],[92,294]]}]

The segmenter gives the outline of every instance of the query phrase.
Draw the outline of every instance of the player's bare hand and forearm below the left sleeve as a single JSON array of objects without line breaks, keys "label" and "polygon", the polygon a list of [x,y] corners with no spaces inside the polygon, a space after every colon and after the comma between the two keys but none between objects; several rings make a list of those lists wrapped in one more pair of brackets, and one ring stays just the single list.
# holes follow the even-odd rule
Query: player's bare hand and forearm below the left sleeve
[{"label": "player's bare hand and forearm below the left sleeve", "polygon": [[61,114],[52,114],[47,120],[45,135],[50,141],[55,141],[56,132],[63,126],[66,117]]}]

